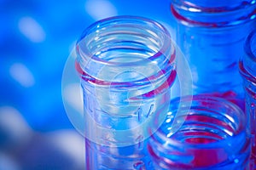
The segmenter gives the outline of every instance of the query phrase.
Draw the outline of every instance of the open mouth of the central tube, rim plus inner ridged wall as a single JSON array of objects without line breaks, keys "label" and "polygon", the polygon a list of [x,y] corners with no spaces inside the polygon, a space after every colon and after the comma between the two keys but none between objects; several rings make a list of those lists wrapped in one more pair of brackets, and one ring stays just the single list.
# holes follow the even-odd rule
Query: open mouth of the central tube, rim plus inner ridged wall
[{"label": "open mouth of the central tube, rim plus inner ridged wall", "polygon": [[[96,63],[117,67],[154,61],[160,55],[170,52],[170,47],[171,36],[160,23],[143,17],[124,15],[99,20],[89,26],[77,42],[77,54],[80,60],[90,59]],[[106,55],[106,52],[118,50],[131,56],[140,50],[144,55],[132,56],[129,59]],[[172,62],[174,57],[166,56],[166,59]]]}]

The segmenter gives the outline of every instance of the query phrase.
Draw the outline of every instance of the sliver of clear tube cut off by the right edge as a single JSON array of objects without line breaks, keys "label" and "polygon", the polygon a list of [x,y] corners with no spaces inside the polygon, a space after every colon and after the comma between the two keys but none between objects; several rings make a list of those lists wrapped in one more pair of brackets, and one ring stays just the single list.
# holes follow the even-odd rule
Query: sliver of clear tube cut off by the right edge
[{"label": "sliver of clear tube cut off by the right edge", "polygon": [[245,54],[241,58],[239,68],[246,94],[246,113],[250,116],[252,133],[252,169],[256,168],[256,31],[253,31],[244,44]]}]

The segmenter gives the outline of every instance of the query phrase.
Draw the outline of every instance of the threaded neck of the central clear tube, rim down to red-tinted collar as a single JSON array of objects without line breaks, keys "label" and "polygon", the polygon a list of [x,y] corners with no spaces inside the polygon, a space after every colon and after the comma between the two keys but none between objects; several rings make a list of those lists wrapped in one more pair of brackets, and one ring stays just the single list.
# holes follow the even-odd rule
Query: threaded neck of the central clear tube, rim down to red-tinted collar
[{"label": "threaded neck of the central clear tube, rim down to red-tinted collar", "polygon": [[77,71],[99,86],[154,84],[166,89],[176,77],[176,48],[166,28],[154,20],[116,16],[97,21],[84,31],[76,47]]}]

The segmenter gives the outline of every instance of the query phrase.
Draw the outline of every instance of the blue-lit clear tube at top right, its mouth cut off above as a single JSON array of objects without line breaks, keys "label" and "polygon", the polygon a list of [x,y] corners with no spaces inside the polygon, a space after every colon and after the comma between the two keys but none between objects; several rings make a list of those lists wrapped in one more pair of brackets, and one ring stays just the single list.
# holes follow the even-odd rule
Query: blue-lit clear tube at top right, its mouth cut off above
[{"label": "blue-lit clear tube at top right, its mouth cut off above", "polygon": [[238,61],[256,26],[255,0],[172,0],[177,45],[193,75],[195,94],[212,94],[244,107]]}]

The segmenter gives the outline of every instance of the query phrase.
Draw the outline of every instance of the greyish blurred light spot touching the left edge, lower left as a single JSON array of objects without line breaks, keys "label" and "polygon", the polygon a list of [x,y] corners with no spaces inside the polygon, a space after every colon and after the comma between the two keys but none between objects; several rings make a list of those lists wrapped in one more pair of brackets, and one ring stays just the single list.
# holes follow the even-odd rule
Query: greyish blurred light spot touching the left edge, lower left
[{"label": "greyish blurred light spot touching the left edge, lower left", "polygon": [[0,125],[9,134],[4,139],[7,140],[8,144],[22,144],[22,142],[26,142],[29,139],[32,132],[20,112],[11,106],[0,107]]}]

